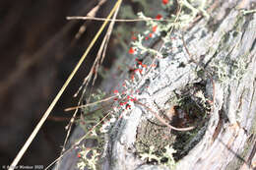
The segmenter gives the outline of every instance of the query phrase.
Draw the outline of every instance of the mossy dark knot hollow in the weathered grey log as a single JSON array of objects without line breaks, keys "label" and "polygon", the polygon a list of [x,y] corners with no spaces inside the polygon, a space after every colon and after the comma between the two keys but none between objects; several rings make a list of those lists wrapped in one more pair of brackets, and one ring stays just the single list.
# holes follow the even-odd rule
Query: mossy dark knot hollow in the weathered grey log
[{"label": "mossy dark knot hollow in the weathered grey log", "polygon": [[[194,145],[200,142],[204,133],[198,135],[198,132],[202,130],[202,127],[207,122],[207,115],[211,110],[210,106],[206,104],[204,89],[204,84],[187,85],[180,90],[180,94],[173,95],[168,103],[168,105],[174,105],[176,111],[175,116],[169,122],[170,125],[177,128],[194,126],[196,127],[195,129],[189,132],[170,131],[169,128],[161,126],[156,118],[144,120],[137,130],[135,146],[138,153],[148,153],[151,146],[154,146],[154,154],[162,156],[164,147],[169,145],[176,150],[173,153],[173,158],[177,161],[186,155]],[[184,117],[179,118],[182,113],[185,113]],[[163,115],[164,112],[160,113],[161,117],[164,117]],[[201,123],[199,124],[199,122]],[[154,159],[149,163],[158,161]]]}]

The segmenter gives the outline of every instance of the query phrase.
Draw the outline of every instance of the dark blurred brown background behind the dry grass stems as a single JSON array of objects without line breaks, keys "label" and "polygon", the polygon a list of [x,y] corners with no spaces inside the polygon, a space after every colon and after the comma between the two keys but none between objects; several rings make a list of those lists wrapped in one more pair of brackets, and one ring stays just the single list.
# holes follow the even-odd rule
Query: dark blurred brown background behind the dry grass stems
[{"label": "dark blurred brown background behind the dry grass stems", "polygon": [[[86,22],[87,30],[75,38],[96,0],[1,0],[0,1],[0,165],[10,165],[27,141],[42,114],[64,84],[101,23]],[[105,17],[114,1],[107,1],[97,17]],[[99,40],[100,42],[100,40]],[[77,104],[73,94],[82,84],[96,57],[92,50],[60,98],[49,119],[36,135],[20,165],[48,165],[60,153],[68,121]],[[111,45],[110,45],[111,49]],[[104,67],[110,67],[107,54]]]}]

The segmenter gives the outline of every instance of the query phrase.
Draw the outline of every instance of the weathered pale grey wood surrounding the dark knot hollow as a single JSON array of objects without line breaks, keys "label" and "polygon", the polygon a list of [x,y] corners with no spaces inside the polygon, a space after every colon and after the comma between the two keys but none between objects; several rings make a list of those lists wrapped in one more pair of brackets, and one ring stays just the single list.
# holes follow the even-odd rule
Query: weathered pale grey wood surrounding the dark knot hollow
[{"label": "weathered pale grey wood surrounding the dark knot hollow", "polygon": [[[230,167],[233,159],[243,159],[241,153],[245,149],[246,140],[253,132],[250,130],[255,122],[256,109],[256,15],[241,15],[241,12],[234,8],[237,2],[223,1],[213,13],[213,20],[201,20],[185,32],[185,41],[190,53],[197,57],[195,60],[199,61],[200,56],[204,56],[202,62],[211,73],[214,73],[211,68],[213,65],[226,67],[228,80],[222,82],[218,76],[214,76],[214,110],[207,126],[198,132],[200,134],[205,131],[204,137],[179,160],[176,169],[225,169],[228,164]],[[155,111],[158,111],[156,105],[164,108],[173,90],[200,82],[193,71],[195,65],[188,64],[189,56],[182,43],[176,46],[178,51],[160,59],[159,68],[139,84],[139,89],[143,91],[141,101]],[[234,75],[234,61],[245,65],[244,70],[239,68],[241,73],[237,79]],[[178,67],[181,62],[186,63],[184,67]],[[226,64],[223,66],[222,62]],[[146,89],[145,86],[149,87]],[[213,91],[210,80],[206,90],[210,94]],[[143,114],[150,113],[137,105],[129,119],[116,123],[118,128],[112,130],[108,142],[107,162],[110,169],[161,169],[153,165],[140,167],[142,161],[136,158],[133,152],[128,151],[134,147],[137,132],[135,127],[141,123]],[[243,163],[250,165],[250,162],[243,160]]]}]

